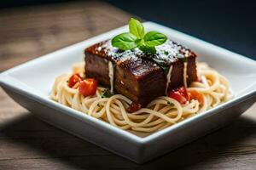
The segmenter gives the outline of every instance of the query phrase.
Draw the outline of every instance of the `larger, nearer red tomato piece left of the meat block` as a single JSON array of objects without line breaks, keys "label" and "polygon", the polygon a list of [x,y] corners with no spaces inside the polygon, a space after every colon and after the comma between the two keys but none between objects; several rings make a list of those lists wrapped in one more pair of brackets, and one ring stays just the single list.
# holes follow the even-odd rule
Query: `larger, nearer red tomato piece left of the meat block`
[{"label": "larger, nearer red tomato piece left of the meat block", "polygon": [[96,94],[98,82],[93,78],[85,78],[80,82],[79,94],[86,96]]}]

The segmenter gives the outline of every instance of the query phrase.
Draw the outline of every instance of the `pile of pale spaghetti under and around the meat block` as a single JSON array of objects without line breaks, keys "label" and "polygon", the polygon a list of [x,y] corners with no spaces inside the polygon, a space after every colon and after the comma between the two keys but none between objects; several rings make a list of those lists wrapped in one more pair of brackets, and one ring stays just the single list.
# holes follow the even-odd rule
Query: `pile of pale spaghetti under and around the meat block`
[{"label": "pile of pale spaghetti under and around the meat block", "polygon": [[79,83],[68,87],[68,79],[73,73],[84,74],[84,63],[74,65],[72,74],[63,74],[55,79],[50,98],[84,114],[108,122],[115,127],[138,132],[154,132],[172,126],[183,119],[207,111],[232,98],[230,86],[225,77],[210,68],[206,63],[197,63],[200,82],[192,82],[188,92],[196,90],[203,95],[202,104],[191,99],[181,105],[177,100],[161,96],[151,101],[147,107],[129,113],[131,99],[121,94],[102,98],[106,88],[97,88],[94,96],[79,94]]}]

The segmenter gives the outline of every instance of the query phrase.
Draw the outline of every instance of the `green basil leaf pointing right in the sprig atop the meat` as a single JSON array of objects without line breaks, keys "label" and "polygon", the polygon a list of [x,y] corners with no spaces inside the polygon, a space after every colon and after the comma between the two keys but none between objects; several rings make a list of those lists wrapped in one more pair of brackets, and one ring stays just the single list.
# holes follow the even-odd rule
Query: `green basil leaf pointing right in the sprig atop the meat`
[{"label": "green basil leaf pointing right in the sprig atop the meat", "polygon": [[158,46],[166,42],[166,40],[167,37],[164,34],[156,31],[149,31],[144,37],[144,42],[149,47]]}]

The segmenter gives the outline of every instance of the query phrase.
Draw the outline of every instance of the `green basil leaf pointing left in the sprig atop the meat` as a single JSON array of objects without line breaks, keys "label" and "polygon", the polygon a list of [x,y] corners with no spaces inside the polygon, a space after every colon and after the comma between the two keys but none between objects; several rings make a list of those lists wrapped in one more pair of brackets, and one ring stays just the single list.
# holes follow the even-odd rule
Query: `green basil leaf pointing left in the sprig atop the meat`
[{"label": "green basil leaf pointing left in the sprig atop the meat", "polygon": [[127,49],[132,49],[137,47],[138,42],[136,40],[137,40],[136,36],[134,36],[129,32],[125,32],[125,33],[119,34],[116,37],[113,37],[111,43],[113,47],[116,47],[122,50],[127,50]]}]

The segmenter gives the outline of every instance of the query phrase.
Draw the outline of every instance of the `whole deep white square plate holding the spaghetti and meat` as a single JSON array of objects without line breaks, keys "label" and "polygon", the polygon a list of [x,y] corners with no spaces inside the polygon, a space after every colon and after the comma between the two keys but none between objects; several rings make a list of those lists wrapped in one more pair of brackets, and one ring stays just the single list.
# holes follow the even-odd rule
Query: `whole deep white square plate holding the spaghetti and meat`
[{"label": "whole deep white square plate holding the spaghetti and meat", "polygon": [[147,31],[163,32],[175,42],[195,51],[201,61],[228,78],[236,97],[150,135],[121,130],[49,99],[55,77],[71,71],[73,63],[84,60],[84,48],[126,31],[127,26],[4,71],[0,75],[0,84],[15,101],[45,122],[138,163],[163,155],[224,126],[253,105],[256,100],[255,61],[165,26],[152,22],[146,22],[144,26]]}]

